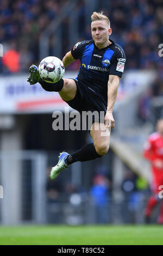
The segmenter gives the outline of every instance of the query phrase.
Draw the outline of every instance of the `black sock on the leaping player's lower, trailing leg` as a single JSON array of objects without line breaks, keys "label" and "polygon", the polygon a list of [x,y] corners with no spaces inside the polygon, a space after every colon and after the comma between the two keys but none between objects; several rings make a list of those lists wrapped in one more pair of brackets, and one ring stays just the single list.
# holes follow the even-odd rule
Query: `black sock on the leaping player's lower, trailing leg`
[{"label": "black sock on the leaping player's lower, trailing leg", "polygon": [[65,159],[65,163],[71,164],[78,161],[84,162],[96,159],[97,157],[102,156],[97,154],[94,144],[90,143],[84,145],[82,149],[68,155]]}]

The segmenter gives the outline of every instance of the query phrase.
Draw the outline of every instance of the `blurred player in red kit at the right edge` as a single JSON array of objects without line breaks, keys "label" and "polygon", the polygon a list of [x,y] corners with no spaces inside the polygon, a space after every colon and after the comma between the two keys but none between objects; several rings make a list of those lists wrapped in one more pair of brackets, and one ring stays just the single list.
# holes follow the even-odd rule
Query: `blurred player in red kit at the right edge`
[{"label": "blurred player in red kit at the right edge", "polygon": [[[147,139],[143,155],[151,162],[152,195],[149,197],[145,208],[145,222],[150,223],[150,218],[154,207],[161,201],[158,224],[163,224],[163,119],[159,119],[156,124],[156,132]],[[161,197],[159,197],[161,193]]]}]

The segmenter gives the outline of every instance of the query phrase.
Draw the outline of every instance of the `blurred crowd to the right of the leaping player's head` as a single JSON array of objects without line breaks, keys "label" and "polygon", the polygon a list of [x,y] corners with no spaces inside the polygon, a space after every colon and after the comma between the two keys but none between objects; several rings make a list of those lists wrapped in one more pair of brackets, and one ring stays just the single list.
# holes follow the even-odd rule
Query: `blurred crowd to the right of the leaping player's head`
[{"label": "blurred crowd to the right of the leaping player's head", "polygon": [[128,69],[162,68],[158,46],[163,38],[161,0],[111,1],[109,16],[114,38],[127,56]]}]

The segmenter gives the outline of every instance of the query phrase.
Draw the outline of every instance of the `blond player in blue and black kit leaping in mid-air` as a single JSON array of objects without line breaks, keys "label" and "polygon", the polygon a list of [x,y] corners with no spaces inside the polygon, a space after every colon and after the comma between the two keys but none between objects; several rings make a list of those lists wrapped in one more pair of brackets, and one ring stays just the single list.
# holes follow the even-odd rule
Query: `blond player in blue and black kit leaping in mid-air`
[{"label": "blond player in blue and black kit leaping in mid-air", "polygon": [[[74,60],[80,59],[81,65],[76,79],[61,78],[59,82],[49,84],[41,80],[35,65],[29,68],[30,84],[39,82],[48,92],[59,92],[62,100],[80,113],[82,111],[105,113],[103,120],[93,119],[90,129],[93,143],[84,145],[73,154],[62,152],[57,165],[51,170],[51,179],[56,178],[70,164],[102,157],[109,150],[110,131],[115,126],[112,109],[126,56],[121,46],[109,38],[112,29],[108,17],[103,15],[103,12],[94,12],[91,20],[92,40],[78,42],[62,59],[65,68]],[[105,136],[102,136],[104,132]]]}]

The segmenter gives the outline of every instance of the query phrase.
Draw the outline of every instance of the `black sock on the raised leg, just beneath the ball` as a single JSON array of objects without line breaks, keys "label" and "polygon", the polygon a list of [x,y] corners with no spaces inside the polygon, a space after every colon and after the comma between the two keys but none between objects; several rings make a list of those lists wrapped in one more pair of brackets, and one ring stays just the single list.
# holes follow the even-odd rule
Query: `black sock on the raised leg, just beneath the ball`
[{"label": "black sock on the raised leg, just beneath the ball", "polygon": [[42,79],[39,81],[42,88],[47,90],[47,92],[60,92],[64,87],[64,80],[61,78],[57,83],[47,83]]}]

